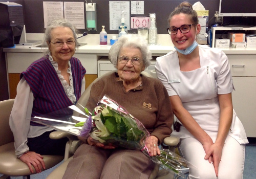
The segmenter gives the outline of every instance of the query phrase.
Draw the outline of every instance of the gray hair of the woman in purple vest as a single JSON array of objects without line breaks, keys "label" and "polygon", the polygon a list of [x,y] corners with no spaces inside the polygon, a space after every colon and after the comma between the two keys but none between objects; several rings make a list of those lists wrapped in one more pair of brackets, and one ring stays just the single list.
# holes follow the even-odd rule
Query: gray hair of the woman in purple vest
[{"label": "gray hair of the woman in purple vest", "polygon": [[78,33],[77,29],[75,26],[73,26],[70,21],[66,19],[54,19],[51,21],[51,23],[48,25],[48,27],[45,30],[45,36],[44,39],[42,40],[42,47],[48,47],[48,50],[46,51],[46,54],[50,52],[49,46],[50,46],[50,41],[51,41],[51,33],[52,30],[57,28],[57,27],[68,27],[71,29],[73,32],[73,36],[75,38],[75,43],[76,43],[76,48],[78,47],[79,43],[77,41],[77,36],[76,34]]}]

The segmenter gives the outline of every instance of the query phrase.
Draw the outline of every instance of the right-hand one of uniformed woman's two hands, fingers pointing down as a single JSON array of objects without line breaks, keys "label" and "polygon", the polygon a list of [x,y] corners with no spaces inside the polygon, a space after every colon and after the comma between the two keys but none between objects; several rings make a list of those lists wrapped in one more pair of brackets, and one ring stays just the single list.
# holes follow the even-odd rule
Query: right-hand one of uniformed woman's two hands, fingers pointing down
[{"label": "right-hand one of uniformed woman's two hands, fingers pointing down", "polygon": [[208,160],[212,156],[212,163],[214,163],[216,176],[218,176],[218,168],[221,161],[221,155],[222,147],[217,144],[212,144],[204,157],[205,160]]}]

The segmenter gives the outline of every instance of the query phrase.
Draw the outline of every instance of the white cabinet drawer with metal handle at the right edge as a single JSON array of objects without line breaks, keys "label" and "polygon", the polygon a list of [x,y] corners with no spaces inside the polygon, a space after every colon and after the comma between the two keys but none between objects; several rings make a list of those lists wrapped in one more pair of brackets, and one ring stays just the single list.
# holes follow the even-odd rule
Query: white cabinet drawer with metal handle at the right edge
[{"label": "white cabinet drawer with metal handle at the right edge", "polygon": [[227,54],[232,76],[256,76],[255,54]]}]

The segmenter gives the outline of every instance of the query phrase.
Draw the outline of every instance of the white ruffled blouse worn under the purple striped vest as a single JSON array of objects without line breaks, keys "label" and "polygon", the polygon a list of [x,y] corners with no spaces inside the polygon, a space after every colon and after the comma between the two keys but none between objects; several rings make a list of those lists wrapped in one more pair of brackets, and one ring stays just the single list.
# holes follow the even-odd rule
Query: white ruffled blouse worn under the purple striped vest
[{"label": "white ruffled blouse worn under the purple striped vest", "polygon": [[[49,59],[61,81],[63,88],[68,96],[68,98],[74,104],[76,102],[76,97],[74,93],[74,85],[71,71],[71,64],[69,62],[69,69],[67,72],[70,74],[69,80],[70,84],[64,79],[61,75],[61,72],[58,70],[58,63],[53,61],[52,56],[49,55]],[[86,81],[83,77],[82,86],[81,86],[81,94],[85,90]],[[42,135],[42,133],[46,131],[51,131],[53,128],[48,126],[31,126],[30,119],[32,114],[34,96],[28,85],[27,81],[24,79],[20,79],[17,85],[17,95],[14,100],[13,108],[10,115],[10,128],[14,135],[14,146],[15,146],[15,154],[20,157],[23,153],[29,150],[27,145],[27,138],[34,138]]]}]

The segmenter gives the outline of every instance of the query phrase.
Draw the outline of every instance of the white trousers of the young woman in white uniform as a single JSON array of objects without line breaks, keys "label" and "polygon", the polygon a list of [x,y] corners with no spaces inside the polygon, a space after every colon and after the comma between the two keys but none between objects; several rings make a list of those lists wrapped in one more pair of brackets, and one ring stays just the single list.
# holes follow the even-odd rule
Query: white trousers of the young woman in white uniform
[{"label": "white trousers of the young woman in white uniform", "polygon": [[[215,140],[213,139],[215,142]],[[235,139],[227,136],[222,149],[221,162],[219,164],[218,177],[214,165],[204,159],[203,145],[194,137],[181,139],[180,154],[197,169],[189,167],[189,179],[241,179],[243,178],[245,145],[239,144]]]}]

